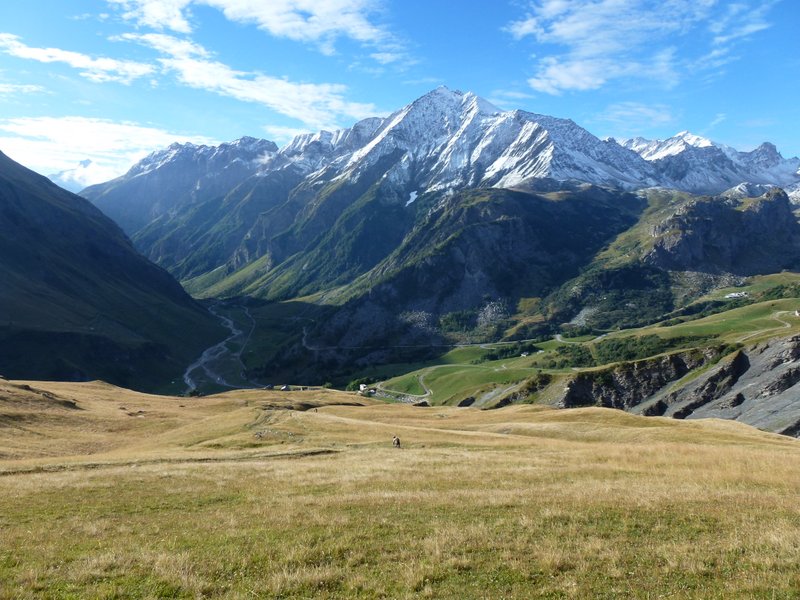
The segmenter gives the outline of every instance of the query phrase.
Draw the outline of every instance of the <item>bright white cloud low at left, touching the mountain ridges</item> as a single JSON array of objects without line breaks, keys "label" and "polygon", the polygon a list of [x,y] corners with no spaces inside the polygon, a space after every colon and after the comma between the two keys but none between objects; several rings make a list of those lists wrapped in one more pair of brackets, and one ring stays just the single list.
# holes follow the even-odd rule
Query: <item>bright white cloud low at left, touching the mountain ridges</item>
[{"label": "bright white cloud low at left, touching the mountain ridges", "polygon": [[[77,169],[84,185],[125,173],[150,152],[173,142],[216,144],[215,140],[129,122],[86,117],[0,119],[0,150],[43,175]],[[80,169],[78,169],[80,171]]]}]

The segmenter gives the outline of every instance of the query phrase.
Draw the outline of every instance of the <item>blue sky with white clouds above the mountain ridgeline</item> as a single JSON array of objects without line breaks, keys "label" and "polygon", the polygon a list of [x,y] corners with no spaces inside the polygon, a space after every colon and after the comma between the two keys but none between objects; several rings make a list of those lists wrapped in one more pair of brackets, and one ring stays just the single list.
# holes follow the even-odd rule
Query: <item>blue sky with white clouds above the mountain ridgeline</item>
[{"label": "blue sky with white clouds above the mountain ridgeline", "polygon": [[438,85],[600,137],[800,155],[797,0],[0,3],[0,150],[93,183],[173,141],[385,115]]}]

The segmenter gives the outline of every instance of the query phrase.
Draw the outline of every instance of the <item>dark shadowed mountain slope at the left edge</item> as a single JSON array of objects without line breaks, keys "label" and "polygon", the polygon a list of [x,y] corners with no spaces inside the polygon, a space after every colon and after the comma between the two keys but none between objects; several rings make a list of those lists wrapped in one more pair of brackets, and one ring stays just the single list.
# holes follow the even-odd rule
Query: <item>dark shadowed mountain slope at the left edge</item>
[{"label": "dark shadowed mountain slope at the left edge", "polygon": [[0,372],[153,389],[221,337],[89,202],[0,153]]}]

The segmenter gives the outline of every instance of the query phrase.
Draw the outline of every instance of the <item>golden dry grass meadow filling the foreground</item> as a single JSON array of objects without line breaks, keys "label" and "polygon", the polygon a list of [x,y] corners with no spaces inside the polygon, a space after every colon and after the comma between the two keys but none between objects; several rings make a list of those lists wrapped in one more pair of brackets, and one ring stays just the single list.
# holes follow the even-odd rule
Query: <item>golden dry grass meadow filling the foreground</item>
[{"label": "golden dry grass meadow filling the foreground", "polygon": [[0,598],[797,597],[798,460],[605,409],[0,380]]}]

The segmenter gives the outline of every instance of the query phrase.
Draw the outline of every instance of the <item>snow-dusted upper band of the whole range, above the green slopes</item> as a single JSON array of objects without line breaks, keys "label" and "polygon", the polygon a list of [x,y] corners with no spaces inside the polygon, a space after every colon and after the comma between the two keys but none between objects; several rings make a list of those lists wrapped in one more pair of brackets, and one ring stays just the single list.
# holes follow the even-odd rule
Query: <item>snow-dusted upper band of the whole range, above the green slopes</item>
[{"label": "snow-dusted upper band of the whole range, above the green slopes", "polygon": [[280,149],[249,137],[219,146],[173,144],[83,193],[134,233],[143,224],[136,218],[142,207],[131,213],[126,202],[123,215],[119,200],[108,197],[133,182],[143,188],[137,202],[147,204],[141,216],[151,220],[224,194],[251,176],[309,184],[380,178],[409,199],[426,191],[507,188],[544,178],[694,193],[720,193],[743,182],[791,188],[800,182],[798,169],[799,159],[784,159],[769,143],[739,152],[686,131],[666,140],[600,140],[568,119],[502,111],[473,93],[439,87],[386,118],[302,134]]}]

